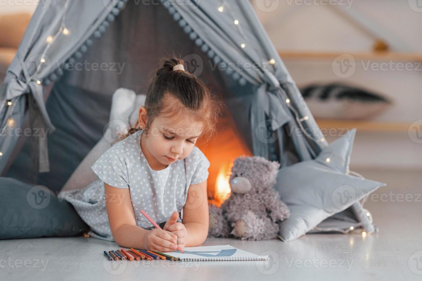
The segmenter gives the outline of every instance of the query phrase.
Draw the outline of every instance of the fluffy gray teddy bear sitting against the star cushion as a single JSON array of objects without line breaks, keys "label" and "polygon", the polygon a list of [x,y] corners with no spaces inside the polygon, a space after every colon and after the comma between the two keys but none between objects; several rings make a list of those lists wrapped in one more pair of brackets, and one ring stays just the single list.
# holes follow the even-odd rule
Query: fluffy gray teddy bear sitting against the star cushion
[{"label": "fluffy gray teddy bear sitting against the star cushion", "polygon": [[276,238],[278,222],[290,216],[289,208],[273,189],[279,167],[280,163],[261,156],[236,158],[230,175],[230,197],[221,208],[208,206],[208,237]]}]

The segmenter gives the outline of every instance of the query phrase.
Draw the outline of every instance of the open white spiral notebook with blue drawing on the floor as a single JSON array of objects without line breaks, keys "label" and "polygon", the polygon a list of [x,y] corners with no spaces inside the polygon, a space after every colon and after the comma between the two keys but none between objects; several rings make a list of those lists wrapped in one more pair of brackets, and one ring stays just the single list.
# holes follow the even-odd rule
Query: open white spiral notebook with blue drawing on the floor
[{"label": "open white spiral notebook with blue drawing on the floor", "polygon": [[184,254],[179,250],[168,252],[172,257],[178,257],[179,260],[268,260],[268,255],[260,256],[252,254],[233,246],[218,245],[218,246],[200,246],[187,247],[183,249]]}]

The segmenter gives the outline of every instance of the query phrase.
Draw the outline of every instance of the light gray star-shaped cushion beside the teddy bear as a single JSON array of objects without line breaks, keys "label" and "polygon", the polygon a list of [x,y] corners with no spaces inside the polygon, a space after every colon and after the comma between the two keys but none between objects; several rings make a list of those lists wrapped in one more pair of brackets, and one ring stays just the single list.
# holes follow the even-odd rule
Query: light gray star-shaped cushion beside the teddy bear
[{"label": "light gray star-shaped cushion beside the teddy bear", "polygon": [[291,216],[280,224],[279,237],[290,241],[307,233],[385,184],[348,173],[356,130],[325,147],[314,160],[279,170],[276,190]]}]

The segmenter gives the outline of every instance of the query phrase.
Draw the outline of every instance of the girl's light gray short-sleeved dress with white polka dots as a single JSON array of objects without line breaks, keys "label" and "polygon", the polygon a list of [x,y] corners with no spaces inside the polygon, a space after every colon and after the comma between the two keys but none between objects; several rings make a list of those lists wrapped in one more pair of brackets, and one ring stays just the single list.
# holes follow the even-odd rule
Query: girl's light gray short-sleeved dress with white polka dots
[{"label": "girl's light gray short-sleeved dress with white polka dots", "polygon": [[140,146],[142,132],[136,131],[117,142],[94,163],[92,170],[99,179],[80,190],[60,193],[90,226],[90,236],[114,241],[106,200],[119,203],[123,198],[106,198],[103,182],[117,188],[128,188],[136,225],[152,229],[154,226],[141,214],[141,209],[157,223],[165,222],[173,211],[178,211],[178,221],[181,222],[180,214],[189,186],[208,178],[210,162],[196,146],[186,158],[171,163],[165,169],[151,169]]}]

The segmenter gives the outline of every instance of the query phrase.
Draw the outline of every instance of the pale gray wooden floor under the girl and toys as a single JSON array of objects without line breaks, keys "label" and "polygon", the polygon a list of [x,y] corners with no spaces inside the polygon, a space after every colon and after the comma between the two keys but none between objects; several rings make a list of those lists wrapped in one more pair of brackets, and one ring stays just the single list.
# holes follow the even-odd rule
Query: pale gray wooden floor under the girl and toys
[{"label": "pale gray wooden floor under the girl and toys", "polygon": [[[95,238],[3,240],[0,280],[422,280],[421,173],[356,171],[388,184],[376,191],[378,199],[365,203],[380,229],[374,235],[308,234],[287,243],[208,238],[204,243],[271,257],[258,262],[110,262],[102,252],[118,246]],[[399,202],[399,194],[413,196],[413,202]]]}]

